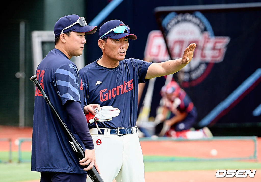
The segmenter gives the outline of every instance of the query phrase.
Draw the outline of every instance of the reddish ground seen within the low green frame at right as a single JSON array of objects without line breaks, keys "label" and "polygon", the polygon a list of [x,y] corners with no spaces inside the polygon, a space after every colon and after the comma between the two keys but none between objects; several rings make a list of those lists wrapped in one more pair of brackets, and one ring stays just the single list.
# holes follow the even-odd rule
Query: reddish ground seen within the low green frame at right
[{"label": "reddish ground seen within the low green frame at right", "polygon": [[[254,154],[254,141],[199,140],[199,141],[140,141],[144,155],[183,156],[197,158],[248,158]],[[157,146],[155,148],[155,146]],[[247,146],[247,147],[241,147]],[[153,149],[153,150],[151,150]],[[211,153],[216,150],[217,153]]]}]

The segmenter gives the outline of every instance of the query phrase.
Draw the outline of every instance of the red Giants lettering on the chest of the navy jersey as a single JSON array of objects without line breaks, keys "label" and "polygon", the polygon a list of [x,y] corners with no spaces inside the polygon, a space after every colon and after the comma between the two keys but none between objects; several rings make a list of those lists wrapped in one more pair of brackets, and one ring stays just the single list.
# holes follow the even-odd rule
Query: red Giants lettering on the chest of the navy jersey
[{"label": "red Giants lettering on the chest of the navy jersey", "polygon": [[127,93],[128,91],[133,89],[133,79],[125,82],[124,84],[118,85],[117,87],[110,89],[107,91],[108,88],[102,89],[100,91],[100,101],[106,101],[112,98],[115,98],[117,95]]}]

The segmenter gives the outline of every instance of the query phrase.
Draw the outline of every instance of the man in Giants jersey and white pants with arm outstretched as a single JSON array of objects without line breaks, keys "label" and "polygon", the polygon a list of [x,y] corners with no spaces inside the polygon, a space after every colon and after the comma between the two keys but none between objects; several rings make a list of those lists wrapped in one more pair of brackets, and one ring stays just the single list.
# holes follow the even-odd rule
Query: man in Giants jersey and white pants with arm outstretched
[{"label": "man in Giants jersey and white pants with arm outstretched", "polygon": [[[183,57],[164,63],[125,59],[129,39],[137,39],[120,20],[110,20],[99,29],[102,56],[79,70],[85,104],[113,106],[121,110],[108,122],[89,124],[97,164],[104,181],[144,181],[144,163],[137,134],[138,84],[150,78],[173,74],[192,59],[195,43]],[[90,181],[87,179],[87,181]]]}]

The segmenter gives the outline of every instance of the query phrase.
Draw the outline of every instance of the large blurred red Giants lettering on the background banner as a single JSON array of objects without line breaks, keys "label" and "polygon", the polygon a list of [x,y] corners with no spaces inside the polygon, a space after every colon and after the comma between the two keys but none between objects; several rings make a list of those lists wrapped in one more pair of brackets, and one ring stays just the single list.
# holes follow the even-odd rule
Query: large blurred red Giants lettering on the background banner
[{"label": "large blurred red Giants lettering on the background banner", "polygon": [[[203,32],[200,37],[192,39],[173,38],[169,40],[169,47],[172,57],[176,59],[182,57],[186,46],[194,42],[197,44],[197,51],[193,55],[194,62],[200,60],[201,62],[219,63],[224,58],[229,41],[229,37],[210,37],[208,32]],[[151,57],[158,62],[170,59],[161,31],[153,30],[149,33],[145,57]]]}]

